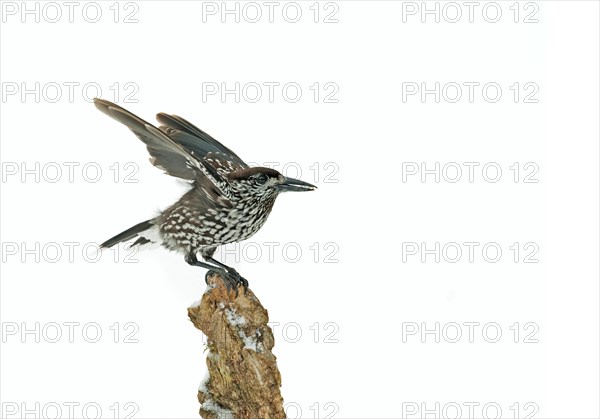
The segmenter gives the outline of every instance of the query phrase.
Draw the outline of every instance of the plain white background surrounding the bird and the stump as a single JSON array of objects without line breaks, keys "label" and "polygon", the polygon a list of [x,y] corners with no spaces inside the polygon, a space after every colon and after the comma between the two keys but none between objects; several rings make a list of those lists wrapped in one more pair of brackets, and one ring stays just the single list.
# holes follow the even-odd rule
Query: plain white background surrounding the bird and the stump
[{"label": "plain white background surrounding the bird and the stump", "polygon": [[[71,417],[69,403],[76,417],[86,404],[88,417],[94,406],[107,418],[136,409],[138,418],[197,417],[205,353],[186,308],[204,291],[204,271],[164,249],[134,255],[137,263],[126,263],[123,248],[95,263],[82,254],[185,190],[89,103],[94,86],[147,120],[159,111],[181,115],[246,161],[287,164],[291,176],[300,167],[300,177],[319,186],[281,196],[250,247],[223,259],[250,280],[278,323],[274,353],[290,417],[414,418],[424,409],[454,417],[455,405],[462,418],[495,417],[496,406],[503,418],[599,417],[597,2],[500,2],[497,23],[487,21],[495,6],[485,2],[472,23],[462,2],[457,23],[448,21],[456,9],[446,3],[437,6],[439,23],[434,15],[421,21],[420,2],[321,3],[318,23],[313,2],[300,4],[297,23],[286,21],[292,6],[282,15],[286,3],[272,23],[262,2],[257,23],[248,22],[254,10],[245,3],[239,23],[234,15],[221,22],[221,2],[101,2],[97,23],[88,22],[94,6],[83,14],[85,2],[72,22],[68,7],[55,3],[56,23],[55,6],[35,3],[27,6],[38,7],[39,22],[36,12],[22,15],[21,2],[2,2],[0,397],[7,417],[25,417],[36,403],[37,414],[45,408],[49,417],[55,404],[60,417]],[[203,14],[214,7],[217,14]],[[329,20],[338,22],[325,23],[333,12]],[[533,12],[537,22],[525,23]],[[280,83],[272,103],[265,82]],[[465,82],[479,83],[472,103]],[[490,82],[502,88],[496,103],[482,95]],[[78,83],[72,97],[69,83]],[[263,97],[251,103],[254,90],[239,103],[233,94],[203,97],[206,83],[258,83]],[[283,96],[286,83],[302,88],[296,103]],[[325,83],[337,86],[337,103],[325,103]],[[463,96],[403,100],[406,83],[458,83]],[[537,87],[537,103],[524,103],[525,83]],[[23,96],[23,88],[38,96]],[[456,183],[450,175],[422,182],[406,177],[411,162],[465,170]],[[479,164],[473,182],[465,162]],[[502,169],[495,183],[481,172],[490,162]],[[65,164],[75,163],[71,182]],[[82,172],[86,164],[101,167],[97,182],[93,167]],[[54,182],[56,166],[63,173]],[[33,174],[23,178],[23,167]],[[125,181],[131,167],[139,169],[137,183]],[[526,183],[532,167],[539,170],[529,180],[537,182]],[[272,260],[265,242],[277,243]],[[480,243],[472,263],[465,242]],[[65,243],[75,243],[72,257]],[[436,263],[433,254],[403,254],[410,243],[458,243],[463,255],[451,263],[454,253],[441,254]],[[484,259],[486,243],[501,247],[496,263]],[[285,245],[301,249],[297,262],[293,249],[282,253]],[[257,248],[262,256],[253,261]],[[538,262],[524,263],[531,249]],[[77,323],[73,342],[67,322]],[[452,322],[463,332],[457,343]],[[466,322],[479,324],[472,342]],[[51,343],[54,323],[62,337]],[[435,332],[420,333],[436,323],[439,343]],[[418,333],[407,334],[414,325]],[[500,328],[497,343],[489,342],[495,329],[482,334],[485,325]],[[90,343],[94,327],[102,336]]]}]

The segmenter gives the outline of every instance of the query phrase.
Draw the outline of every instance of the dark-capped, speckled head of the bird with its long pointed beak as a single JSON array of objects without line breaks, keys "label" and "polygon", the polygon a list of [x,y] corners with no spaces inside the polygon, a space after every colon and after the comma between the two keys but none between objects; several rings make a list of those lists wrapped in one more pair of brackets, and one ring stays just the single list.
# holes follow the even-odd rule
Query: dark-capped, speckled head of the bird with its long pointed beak
[{"label": "dark-capped, speckled head of the bird with its long pointed beak", "polygon": [[269,198],[280,192],[304,192],[317,189],[310,183],[283,176],[268,167],[251,167],[228,175],[230,184],[242,196]]}]

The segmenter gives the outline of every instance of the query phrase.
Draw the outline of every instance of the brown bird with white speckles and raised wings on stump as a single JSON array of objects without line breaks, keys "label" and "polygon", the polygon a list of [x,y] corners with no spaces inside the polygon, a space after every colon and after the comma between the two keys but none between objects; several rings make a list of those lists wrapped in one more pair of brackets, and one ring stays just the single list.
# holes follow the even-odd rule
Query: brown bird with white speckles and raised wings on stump
[{"label": "brown bird with white speckles and raised wings on stump", "polygon": [[246,292],[248,280],[214,259],[217,248],[252,237],[265,224],[280,193],[317,187],[272,168],[250,167],[232,150],[177,115],[157,114],[157,127],[107,100],[95,98],[94,104],[146,144],[154,166],[191,186],[159,215],[106,240],[100,248],[121,242],[131,242],[131,246],[158,243],[183,253],[189,265],[208,269],[207,282],[210,275],[218,274],[236,296],[240,286]]}]

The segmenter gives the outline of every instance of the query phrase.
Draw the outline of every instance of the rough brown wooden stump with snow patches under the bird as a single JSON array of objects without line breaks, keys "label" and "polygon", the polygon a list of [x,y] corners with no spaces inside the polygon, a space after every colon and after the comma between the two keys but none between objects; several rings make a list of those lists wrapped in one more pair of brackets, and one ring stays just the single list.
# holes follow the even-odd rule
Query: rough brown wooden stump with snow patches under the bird
[{"label": "rough brown wooden stump with snow patches under the bird", "polygon": [[198,391],[204,419],[285,419],[281,376],[271,352],[269,315],[248,289],[228,291],[208,278],[198,305],[188,308],[194,326],[208,338],[208,378]]}]

